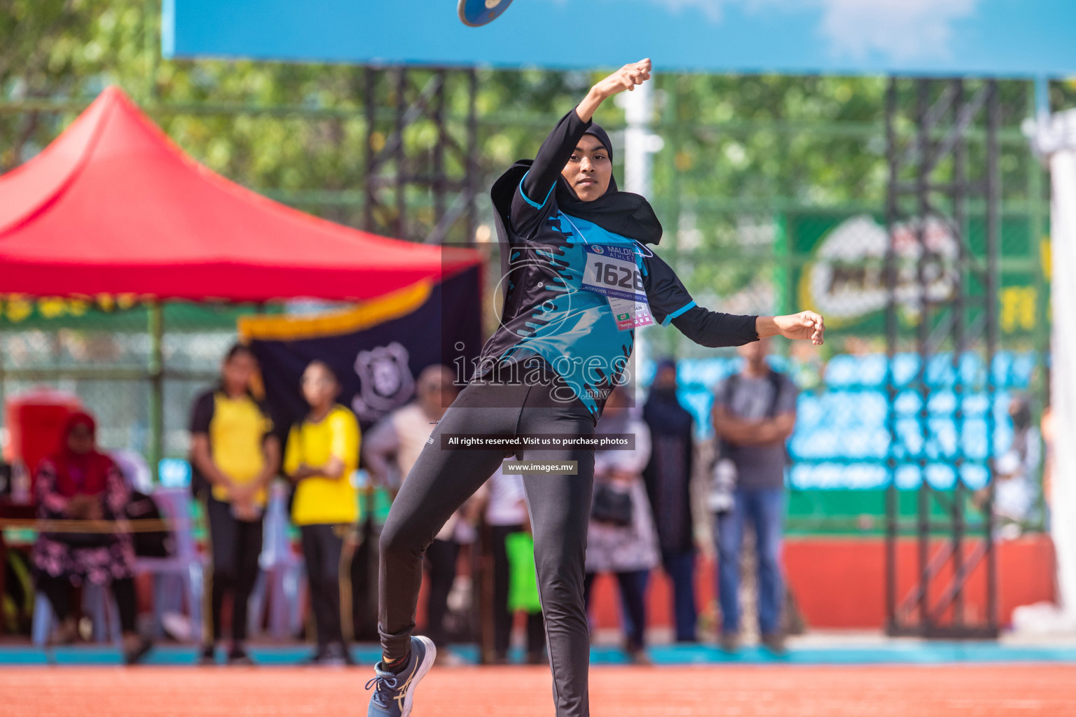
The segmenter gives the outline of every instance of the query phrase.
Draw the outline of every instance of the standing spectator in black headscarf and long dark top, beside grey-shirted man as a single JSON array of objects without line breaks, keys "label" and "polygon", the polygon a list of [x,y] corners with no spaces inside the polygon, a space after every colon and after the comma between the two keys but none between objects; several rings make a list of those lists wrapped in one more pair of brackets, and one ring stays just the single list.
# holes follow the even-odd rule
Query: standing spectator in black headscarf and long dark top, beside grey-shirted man
[{"label": "standing spectator in black headscarf and long dark top, beside grey-shirted man", "polygon": [[691,519],[694,419],[677,398],[676,361],[657,363],[642,406],[652,453],[642,477],[657,526],[662,567],[672,582],[677,642],[695,642],[695,536]]}]

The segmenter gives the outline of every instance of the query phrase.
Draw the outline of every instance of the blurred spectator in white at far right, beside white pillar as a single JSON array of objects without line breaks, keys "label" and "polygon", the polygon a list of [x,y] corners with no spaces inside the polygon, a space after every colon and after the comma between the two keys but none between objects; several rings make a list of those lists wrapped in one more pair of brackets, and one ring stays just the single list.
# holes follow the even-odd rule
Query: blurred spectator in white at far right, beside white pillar
[{"label": "blurred spectator in white at far right, beside white pillar", "polygon": [[[1019,537],[1023,524],[1034,517],[1038,500],[1038,465],[1042,460],[1042,438],[1031,420],[1031,402],[1024,397],[1009,401],[1013,421],[1013,443],[994,461],[994,516],[1002,537]],[[977,496],[981,504],[987,489]]]}]

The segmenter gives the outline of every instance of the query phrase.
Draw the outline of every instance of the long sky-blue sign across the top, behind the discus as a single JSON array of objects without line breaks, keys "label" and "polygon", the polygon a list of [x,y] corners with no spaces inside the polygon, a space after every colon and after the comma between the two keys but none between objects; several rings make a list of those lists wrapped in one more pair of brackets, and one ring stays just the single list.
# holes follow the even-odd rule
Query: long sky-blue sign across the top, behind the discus
[{"label": "long sky-blue sign across the top, behind the discus", "polygon": [[661,71],[1076,75],[1073,0],[164,0],[166,57]]}]

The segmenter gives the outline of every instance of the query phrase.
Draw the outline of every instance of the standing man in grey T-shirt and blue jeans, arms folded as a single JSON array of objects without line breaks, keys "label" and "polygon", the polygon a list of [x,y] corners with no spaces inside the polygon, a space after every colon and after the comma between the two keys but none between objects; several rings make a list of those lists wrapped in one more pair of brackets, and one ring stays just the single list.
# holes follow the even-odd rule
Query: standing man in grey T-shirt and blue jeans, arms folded
[{"label": "standing man in grey T-shirt and blue jeans, arms folded", "polygon": [[775,651],[784,649],[781,632],[783,579],[781,535],[784,519],[784,443],[796,420],[795,384],[769,368],[769,340],[737,348],[739,373],[722,381],[713,400],[713,431],[721,447],[716,478],[731,472],[731,501],[711,501],[717,512],[718,596],[721,645],[739,646],[740,553],[747,521],[754,526],[759,565],[759,631]]}]

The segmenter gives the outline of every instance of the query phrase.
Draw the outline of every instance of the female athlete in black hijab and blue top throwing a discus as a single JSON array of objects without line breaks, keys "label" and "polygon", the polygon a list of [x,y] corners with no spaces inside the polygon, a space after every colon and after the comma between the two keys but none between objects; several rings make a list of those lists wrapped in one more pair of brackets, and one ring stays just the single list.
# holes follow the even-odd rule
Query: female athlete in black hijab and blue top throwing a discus
[{"label": "female athlete in black hijab and blue top throwing a discus", "polygon": [[[369,715],[407,717],[434,645],[414,636],[426,546],[506,458],[502,449],[442,446],[441,435],[592,436],[632,354],[635,326],[671,324],[704,346],[782,335],[821,344],[813,312],[733,316],[697,306],[652,250],[662,236],[649,202],[619,191],[609,135],[591,121],[618,92],[650,78],[650,60],[627,64],[586,94],[542,143],[493,186],[505,269],[501,325],[476,378],[437,425],[404,481],[381,534],[379,630],[383,657],[368,683]],[[557,717],[586,717],[590,639],[583,607],[594,450],[522,448],[524,461],[575,465],[525,475],[538,589]]]}]

